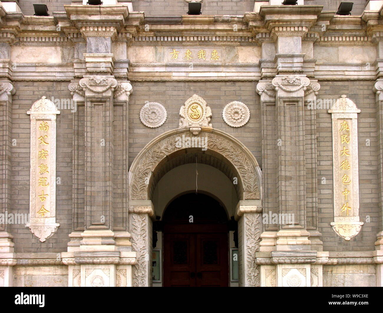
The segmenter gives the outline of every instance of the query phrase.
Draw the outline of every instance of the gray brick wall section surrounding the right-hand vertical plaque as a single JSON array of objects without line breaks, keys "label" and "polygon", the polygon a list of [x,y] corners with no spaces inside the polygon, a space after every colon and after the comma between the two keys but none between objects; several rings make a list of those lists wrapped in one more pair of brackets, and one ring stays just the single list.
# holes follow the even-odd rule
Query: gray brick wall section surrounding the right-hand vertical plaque
[{"label": "gray brick wall section surrounding the right-hand vertical plaque", "polygon": [[[318,98],[336,99],[347,95],[361,110],[358,114],[358,158],[359,158],[359,216],[365,224],[360,233],[345,241],[338,236],[330,223],[334,221],[332,183],[332,132],[331,114],[327,109],[317,111],[318,148],[318,226],[322,233],[325,251],[368,251],[374,250],[376,234],[380,231],[378,222],[378,142],[376,125],[375,94],[373,82],[319,82]],[[370,146],[366,146],[366,139]],[[321,184],[322,177],[326,184]],[[366,223],[366,216],[371,222]]]}]

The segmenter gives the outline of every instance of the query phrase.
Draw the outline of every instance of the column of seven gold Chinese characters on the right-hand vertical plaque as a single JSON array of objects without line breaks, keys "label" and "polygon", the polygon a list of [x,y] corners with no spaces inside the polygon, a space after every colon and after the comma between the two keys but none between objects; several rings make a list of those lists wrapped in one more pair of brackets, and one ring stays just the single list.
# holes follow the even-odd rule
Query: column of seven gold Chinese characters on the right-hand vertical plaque
[{"label": "column of seven gold Chinese characters on the right-hand vertical plaque", "polygon": [[[350,212],[352,212],[352,179],[349,176],[348,173],[352,173],[352,164],[349,160],[352,160],[352,155],[349,150],[349,144],[350,144],[350,124],[348,121],[340,121],[339,125],[339,132],[340,132],[340,145],[341,149],[339,149],[339,158],[340,158],[340,166],[339,168],[344,171],[343,176],[341,178],[341,186],[344,188],[344,190],[341,191],[340,199],[341,206],[340,206],[340,213],[342,213],[345,216],[349,216]],[[350,158],[347,158],[350,157]],[[351,175],[352,176],[352,175]],[[347,186],[351,189],[347,189]],[[349,199],[347,200],[347,197]],[[349,204],[349,201],[351,201]]]}]

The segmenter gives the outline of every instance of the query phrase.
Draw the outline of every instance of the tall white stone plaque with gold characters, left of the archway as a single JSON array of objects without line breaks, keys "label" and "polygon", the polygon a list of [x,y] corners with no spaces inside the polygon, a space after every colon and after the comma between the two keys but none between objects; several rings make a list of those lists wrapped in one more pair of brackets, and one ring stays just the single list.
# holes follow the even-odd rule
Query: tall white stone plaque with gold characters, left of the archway
[{"label": "tall white stone plaque with gold characters, left of the archway", "polygon": [[42,97],[27,112],[31,116],[30,220],[26,224],[41,242],[53,235],[56,223],[55,104]]}]

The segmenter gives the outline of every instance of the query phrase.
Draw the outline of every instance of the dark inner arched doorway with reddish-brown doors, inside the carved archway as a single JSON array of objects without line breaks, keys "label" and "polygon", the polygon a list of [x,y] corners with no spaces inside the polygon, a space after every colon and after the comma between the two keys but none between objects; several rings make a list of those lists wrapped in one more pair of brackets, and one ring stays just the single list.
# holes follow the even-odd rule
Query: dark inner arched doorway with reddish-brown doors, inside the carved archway
[{"label": "dark inner arched doorway with reddish-brown doors, inside the carved archway", "polygon": [[164,212],[164,287],[229,285],[228,216],[205,194],[173,200]]}]

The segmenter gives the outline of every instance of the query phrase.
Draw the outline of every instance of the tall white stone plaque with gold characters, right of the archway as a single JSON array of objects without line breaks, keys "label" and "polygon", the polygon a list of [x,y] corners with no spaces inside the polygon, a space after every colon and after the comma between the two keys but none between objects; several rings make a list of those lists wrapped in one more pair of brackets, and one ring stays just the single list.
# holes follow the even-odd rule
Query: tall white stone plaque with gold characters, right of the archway
[{"label": "tall white stone plaque with gold characters, right of the archway", "polygon": [[345,240],[356,236],[359,221],[358,125],[355,103],[342,95],[332,109],[334,231]]}]

